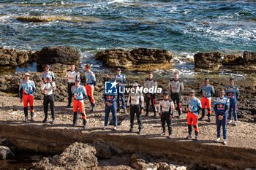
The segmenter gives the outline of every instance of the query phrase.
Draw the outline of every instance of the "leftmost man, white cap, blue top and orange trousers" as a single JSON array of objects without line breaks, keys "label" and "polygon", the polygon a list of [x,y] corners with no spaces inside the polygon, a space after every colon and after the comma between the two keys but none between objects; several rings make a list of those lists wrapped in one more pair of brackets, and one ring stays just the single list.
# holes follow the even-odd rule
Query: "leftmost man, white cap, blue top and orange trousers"
[{"label": "leftmost man, white cap, blue top and orange trousers", "polygon": [[36,90],[36,86],[34,85],[34,81],[29,80],[29,77],[30,74],[26,72],[24,80],[20,82],[19,97],[20,102],[23,102],[25,122],[28,121],[28,104],[30,107],[31,122],[34,122],[34,91]]}]

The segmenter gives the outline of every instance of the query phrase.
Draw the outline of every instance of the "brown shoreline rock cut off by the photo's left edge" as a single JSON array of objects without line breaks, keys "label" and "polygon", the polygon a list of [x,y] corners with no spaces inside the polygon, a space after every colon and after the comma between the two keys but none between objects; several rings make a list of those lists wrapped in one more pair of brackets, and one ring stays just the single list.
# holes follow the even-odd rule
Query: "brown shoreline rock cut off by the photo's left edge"
[{"label": "brown shoreline rock cut off by the photo's left edge", "polygon": [[29,61],[31,52],[0,48],[0,66],[19,66]]}]

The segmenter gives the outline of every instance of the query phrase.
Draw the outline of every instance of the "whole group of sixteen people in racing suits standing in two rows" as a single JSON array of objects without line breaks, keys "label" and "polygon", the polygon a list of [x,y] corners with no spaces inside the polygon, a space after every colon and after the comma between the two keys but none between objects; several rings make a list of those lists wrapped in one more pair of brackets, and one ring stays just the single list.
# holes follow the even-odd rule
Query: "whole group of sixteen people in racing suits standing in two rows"
[{"label": "whole group of sixteen people in racing suits standing in two rows", "polygon": [[[71,107],[73,103],[73,126],[77,125],[78,109],[83,119],[83,128],[86,128],[86,112],[84,109],[84,99],[89,98],[91,104],[91,111],[94,111],[94,86],[96,85],[96,77],[93,72],[91,72],[90,64],[86,64],[85,67],[85,77],[86,84],[80,85],[80,73],[75,71],[75,66],[72,65],[67,71],[67,92],[68,92],[68,104],[67,107]],[[24,80],[20,83],[19,96],[20,101],[23,102],[25,121],[28,121],[28,104],[31,111],[31,121],[34,121],[34,90],[36,89],[34,82],[29,80],[30,74],[27,72],[25,74]],[[45,118],[42,123],[46,123],[48,119],[48,105],[50,104],[50,111],[52,115],[52,123],[56,123],[55,120],[55,109],[54,109],[54,90],[56,90],[56,84],[54,82],[55,76],[53,72],[50,71],[50,66],[45,66],[45,72],[42,72],[42,85],[41,91],[44,95],[43,105]],[[118,119],[117,112],[120,109],[124,109],[124,113],[129,112],[130,115],[130,129],[129,132],[134,131],[134,118],[135,115],[138,120],[138,134],[142,134],[143,122],[142,115],[144,112],[144,102],[146,101],[146,114],[149,115],[150,105],[154,113],[154,117],[157,117],[157,113],[161,117],[162,122],[162,133],[165,135],[165,124],[168,128],[168,138],[172,135],[172,125],[171,122],[174,118],[174,111],[178,111],[178,118],[182,115],[182,92],[184,90],[184,82],[179,79],[178,72],[173,74],[173,79],[168,83],[170,88],[170,93],[167,90],[163,92],[163,99],[159,101],[157,110],[157,93],[129,93],[127,104],[125,103],[124,97],[124,85],[127,80],[124,74],[121,74],[121,69],[116,69],[116,74],[113,80],[118,82],[118,88],[116,94],[104,94],[103,100],[105,102],[105,123],[103,130],[108,128],[108,118],[110,111],[113,115],[114,130],[117,130]],[[139,88],[138,82],[133,83],[133,88]],[[148,77],[144,82],[143,88],[157,88],[157,80],[153,79],[152,72],[148,72]],[[136,91],[136,90],[135,90]],[[208,121],[211,122],[211,98],[215,95],[215,90],[212,85],[209,84],[208,78],[204,80],[203,85],[200,86],[199,93],[201,94],[201,100],[195,97],[195,90],[189,91],[189,98],[187,98],[187,124],[189,135],[186,139],[192,138],[192,127],[195,130],[195,141],[198,141],[198,120],[203,120],[206,115],[208,115]],[[169,96],[170,94],[170,96]],[[225,96],[227,95],[227,96]],[[230,79],[230,85],[224,89],[219,90],[219,96],[214,99],[214,112],[216,116],[217,124],[217,139],[216,142],[220,141],[220,128],[223,129],[224,144],[227,144],[227,124],[232,122],[232,113],[235,119],[235,125],[237,123],[237,100],[239,96],[239,90],[236,85],[234,85],[234,79]],[[72,99],[73,98],[73,99]],[[144,100],[145,98],[145,100]],[[121,104],[120,104],[121,100]],[[176,104],[176,107],[175,107]],[[202,110],[202,116],[198,119],[198,115]],[[228,121],[227,121],[228,120]]]}]

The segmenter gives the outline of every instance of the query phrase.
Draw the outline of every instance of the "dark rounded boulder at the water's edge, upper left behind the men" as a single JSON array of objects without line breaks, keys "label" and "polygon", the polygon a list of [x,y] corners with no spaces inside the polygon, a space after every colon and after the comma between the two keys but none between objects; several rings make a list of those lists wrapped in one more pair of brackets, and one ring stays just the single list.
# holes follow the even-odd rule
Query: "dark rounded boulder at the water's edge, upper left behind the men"
[{"label": "dark rounded boulder at the water's edge, upper left behind the men", "polygon": [[37,64],[45,66],[45,64],[55,63],[78,66],[80,53],[75,47],[43,47],[39,52]]}]

